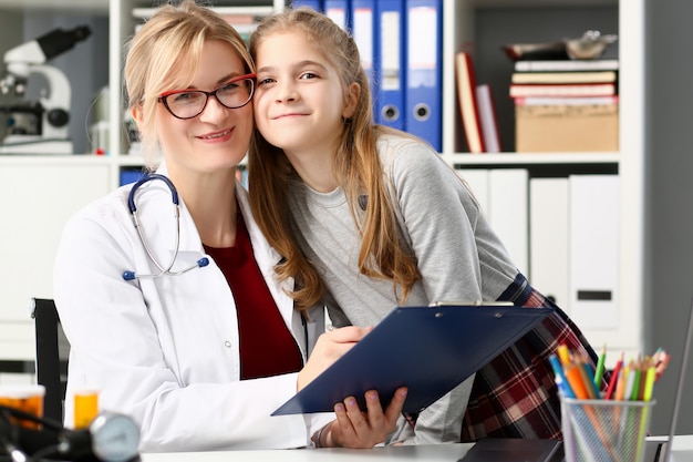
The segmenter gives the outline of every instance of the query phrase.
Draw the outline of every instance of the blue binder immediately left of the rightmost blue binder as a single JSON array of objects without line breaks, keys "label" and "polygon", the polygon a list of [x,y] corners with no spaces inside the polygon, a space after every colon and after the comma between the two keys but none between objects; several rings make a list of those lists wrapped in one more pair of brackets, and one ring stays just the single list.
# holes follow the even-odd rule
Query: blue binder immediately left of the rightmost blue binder
[{"label": "blue binder immediately left of the rightmost blue binder", "polygon": [[404,0],[379,0],[375,24],[375,122],[406,130]]}]

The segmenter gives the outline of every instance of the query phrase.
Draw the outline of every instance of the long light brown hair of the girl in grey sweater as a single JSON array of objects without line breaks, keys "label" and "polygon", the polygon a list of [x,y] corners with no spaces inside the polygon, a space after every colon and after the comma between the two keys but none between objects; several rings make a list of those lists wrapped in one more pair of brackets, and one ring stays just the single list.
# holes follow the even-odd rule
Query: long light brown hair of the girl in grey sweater
[{"label": "long light brown hair of the girl in grey sweater", "polygon": [[[359,270],[369,277],[392,280],[395,297],[403,301],[421,276],[414,257],[405,250],[397,235],[393,204],[376,150],[379,135],[389,130],[373,123],[371,91],[359,49],[353,38],[331,19],[299,8],[263,20],[250,38],[250,54],[257,55],[258,47],[267,37],[286,31],[303,33],[322,50],[341,78],[344,102],[352,83],[361,86],[354,114],[344,123],[333,174],[346,195],[362,238]],[[276,271],[280,279],[296,279],[296,289],[290,295],[299,309],[309,308],[321,300],[324,284],[292,234],[299,230],[289,213],[286,192],[300,181],[298,174],[283,152],[270,145],[257,129],[250,142],[248,170],[256,220],[269,243],[283,256]],[[365,211],[359,205],[362,195],[368,196]]]}]

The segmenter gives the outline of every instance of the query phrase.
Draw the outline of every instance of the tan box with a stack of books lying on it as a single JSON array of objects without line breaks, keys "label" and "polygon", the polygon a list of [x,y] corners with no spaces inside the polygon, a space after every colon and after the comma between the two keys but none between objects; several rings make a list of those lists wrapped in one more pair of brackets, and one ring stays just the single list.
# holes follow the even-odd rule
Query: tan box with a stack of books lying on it
[{"label": "tan box with a stack of books lying on it", "polygon": [[517,152],[619,150],[618,60],[517,61]]}]

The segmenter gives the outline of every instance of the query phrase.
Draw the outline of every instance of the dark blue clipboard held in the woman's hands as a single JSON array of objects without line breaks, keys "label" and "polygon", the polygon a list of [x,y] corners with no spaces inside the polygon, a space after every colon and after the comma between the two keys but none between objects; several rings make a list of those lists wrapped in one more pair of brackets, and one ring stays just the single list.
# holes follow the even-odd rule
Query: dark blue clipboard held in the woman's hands
[{"label": "dark blue clipboard held in the woman's hands", "polygon": [[408,388],[404,412],[421,412],[531,330],[554,308],[510,305],[397,307],[272,415],[332,412],[377,390],[385,407]]}]

